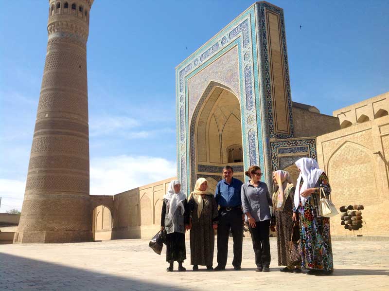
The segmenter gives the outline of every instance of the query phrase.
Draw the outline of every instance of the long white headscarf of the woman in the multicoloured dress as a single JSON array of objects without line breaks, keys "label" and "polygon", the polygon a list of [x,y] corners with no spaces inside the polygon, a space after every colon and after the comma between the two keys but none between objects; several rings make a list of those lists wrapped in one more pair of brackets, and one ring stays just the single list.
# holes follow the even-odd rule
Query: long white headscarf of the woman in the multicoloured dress
[{"label": "long white headscarf of the woman in the multicoloured dress", "polygon": [[[296,209],[299,207],[300,199],[301,205],[305,204],[307,198],[300,196],[302,192],[304,192],[308,188],[315,187],[316,183],[319,180],[320,175],[324,172],[319,169],[318,162],[314,159],[310,158],[301,158],[296,163],[297,167],[300,169],[300,175],[297,179],[297,185],[295,190],[295,207]],[[303,179],[303,183],[300,188],[301,178]]]}]

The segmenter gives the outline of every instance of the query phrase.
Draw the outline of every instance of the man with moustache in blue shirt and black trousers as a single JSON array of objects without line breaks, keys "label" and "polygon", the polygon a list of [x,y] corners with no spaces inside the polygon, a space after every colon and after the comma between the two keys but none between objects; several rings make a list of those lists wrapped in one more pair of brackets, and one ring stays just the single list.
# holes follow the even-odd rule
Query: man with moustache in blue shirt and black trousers
[{"label": "man with moustache in blue shirt and black trousers", "polygon": [[242,243],[243,243],[243,212],[240,190],[242,182],[233,178],[231,166],[223,168],[222,181],[216,186],[215,198],[220,205],[219,226],[217,228],[217,267],[215,271],[226,269],[228,239],[230,230],[234,242],[234,259],[232,265],[235,270],[241,270]]}]

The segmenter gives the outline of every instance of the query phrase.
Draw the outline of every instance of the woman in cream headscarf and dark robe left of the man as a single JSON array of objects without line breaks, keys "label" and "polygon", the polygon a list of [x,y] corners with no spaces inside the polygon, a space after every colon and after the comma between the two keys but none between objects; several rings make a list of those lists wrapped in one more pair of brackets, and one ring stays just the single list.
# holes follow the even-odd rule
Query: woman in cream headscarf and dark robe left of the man
[{"label": "woman in cream headscarf and dark robe left of the man", "polygon": [[209,271],[213,270],[214,230],[217,229],[218,211],[215,197],[207,189],[207,180],[200,178],[189,196],[193,271],[198,271],[198,265],[207,266]]}]

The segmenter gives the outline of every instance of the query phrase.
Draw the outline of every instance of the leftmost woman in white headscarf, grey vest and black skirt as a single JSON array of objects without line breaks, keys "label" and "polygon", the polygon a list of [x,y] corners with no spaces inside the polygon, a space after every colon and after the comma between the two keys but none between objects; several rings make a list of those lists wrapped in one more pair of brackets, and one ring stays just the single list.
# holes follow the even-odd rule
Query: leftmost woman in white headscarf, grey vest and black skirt
[{"label": "leftmost woman in white headscarf, grey vest and black skirt", "polygon": [[182,266],[186,259],[185,231],[189,229],[189,207],[186,195],[181,192],[178,180],[170,182],[167,193],[163,196],[161,213],[161,230],[166,230],[167,272],[173,272],[173,262],[178,262],[178,271],[186,271]]}]

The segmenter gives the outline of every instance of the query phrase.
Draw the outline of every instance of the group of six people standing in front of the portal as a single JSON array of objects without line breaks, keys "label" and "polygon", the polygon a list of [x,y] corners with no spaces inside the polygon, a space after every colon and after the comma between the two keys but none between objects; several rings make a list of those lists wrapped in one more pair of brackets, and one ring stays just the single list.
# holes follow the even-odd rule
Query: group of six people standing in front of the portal
[{"label": "group of six people standing in front of the portal", "polygon": [[[215,194],[207,191],[205,178],[195,183],[189,198],[181,192],[178,180],[170,183],[164,196],[161,230],[166,231],[166,261],[173,271],[173,262],[178,262],[178,271],[186,259],[185,232],[190,230],[191,265],[207,270],[223,271],[227,265],[229,235],[233,238],[234,270],[241,270],[243,225],[248,223],[251,234],[257,272],[270,271],[270,229],[277,233],[278,265],[280,271],[329,275],[333,273],[333,256],[329,218],[318,215],[313,196],[320,191],[331,193],[328,178],[318,163],[310,158],[296,162],[300,171],[294,185],[286,171],[273,172],[275,192],[270,196],[262,171],[250,166],[245,174],[246,183],[233,178],[231,166],[223,168],[223,180],[216,186]],[[321,188],[321,189],[320,189]],[[214,230],[217,229],[217,266],[213,269]],[[290,258],[290,238],[297,229],[299,247],[297,259]]]}]

